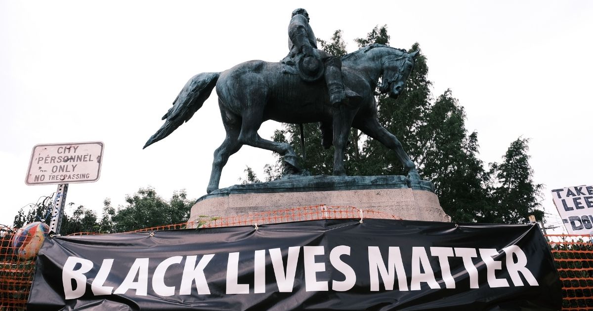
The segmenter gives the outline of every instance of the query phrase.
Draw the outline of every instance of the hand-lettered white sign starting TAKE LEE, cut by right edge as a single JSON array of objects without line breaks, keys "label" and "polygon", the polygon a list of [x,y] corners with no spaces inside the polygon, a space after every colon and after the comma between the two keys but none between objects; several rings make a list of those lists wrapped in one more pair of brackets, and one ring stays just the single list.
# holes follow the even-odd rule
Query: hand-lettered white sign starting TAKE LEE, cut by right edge
[{"label": "hand-lettered white sign starting TAKE LEE, cut by right edge", "polygon": [[588,235],[593,232],[593,186],[554,189],[552,197],[570,234]]}]

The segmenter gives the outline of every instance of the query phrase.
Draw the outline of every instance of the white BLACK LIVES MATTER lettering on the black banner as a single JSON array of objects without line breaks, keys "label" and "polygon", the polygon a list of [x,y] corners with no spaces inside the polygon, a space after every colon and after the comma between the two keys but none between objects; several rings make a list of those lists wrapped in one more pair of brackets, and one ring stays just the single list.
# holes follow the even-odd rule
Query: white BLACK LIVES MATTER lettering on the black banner
[{"label": "white BLACK LIVES MATTER lettering on the black banner", "polygon": [[[303,249],[302,262],[299,262],[299,253]],[[410,258],[404,260],[399,246],[389,246],[381,249],[379,246],[368,246],[368,272],[369,291],[396,290],[417,291],[422,288],[458,288],[456,281],[469,279],[469,288],[479,288],[480,280],[478,268],[486,269],[487,286],[510,287],[538,286],[534,275],[527,268],[528,259],[525,253],[517,245],[510,245],[498,251],[493,248],[451,248],[451,247],[430,247],[413,246],[406,254]],[[381,252],[383,251],[383,253]],[[247,252],[228,253],[226,271],[226,293],[227,294],[249,294],[266,293],[266,259],[269,259],[274,270],[276,286],[282,293],[291,293],[294,290],[294,283],[298,265],[302,265],[304,275],[304,288],[306,291],[347,291],[356,284],[356,272],[348,262],[351,248],[346,245],[338,245],[326,251],[325,246],[291,246],[285,249],[286,265],[282,256],[282,249],[260,249],[253,251],[253,257]],[[430,254],[430,255],[429,255]],[[386,257],[385,257],[386,255]],[[192,295],[193,284],[196,285],[198,295],[210,294],[208,278],[204,270],[215,254],[201,255],[197,262],[197,255],[174,256],[154,262],[155,259],[136,258],[126,277],[119,284],[116,290],[113,280],[110,282],[110,272],[114,264],[121,267],[122,262],[117,259],[103,259],[100,267],[93,270],[93,262],[78,257],[68,257],[62,270],[62,284],[66,299],[77,299],[84,296],[87,288],[88,278],[92,279],[91,291],[94,296],[113,294],[124,294],[146,296],[153,294],[161,297],[174,296],[178,288],[179,295]],[[329,257],[329,258],[326,258]],[[243,258],[243,260],[241,260]],[[251,260],[253,258],[253,260]],[[329,260],[328,260],[329,259]],[[154,271],[149,271],[151,262]],[[455,275],[451,274],[451,260],[457,261],[457,265],[463,263],[463,270],[458,270]],[[185,261],[183,263],[183,261]],[[461,261],[461,262],[460,262]],[[502,261],[505,261],[503,268]],[[197,265],[196,265],[197,262]],[[404,267],[404,262],[409,267]],[[177,276],[179,268],[174,265],[183,263],[183,274],[179,277],[179,283],[172,280],[173,275]],[[387,263],[387,264],[385,264]],[[123,262],[125,265],[125,262]],[[331,267],[327,267],[329,264]],[[250,267],[246,267],[250,265]],[[286,267],[286,268],[285,268]],[[97,271],[98,269],[98,271]],[[253,269],[253,282],[239,283],[239,271]],[[436,270],[435,270],[436,269]],[[456,269],[457,266],[456,266]],[[97,271],[94,278],[91,270]],[[411,271],[410,278],[406,270]],[[497,278],[497,271],[500,275],[508,272],[511,282],[507,278]],[[337,271],[337,272],[334,272]],[[150,274],[152,273],[152,274]],[[170,275],[167,277],[167,275]],[[249,274],[249,273],[247,273]],[[343,274],[343,277],[342,275]],[[467,274],[467,275],[466,275]],[[245,275],[244,273],[241,275]],[[152,291],[148,291],[149,279],[152,280]],[[167,280],[167,284],[165,284]],[[244,280],[245,281],[245,280]],[[382,283],[382,285],[381,285]],[[426,284],[423,284],[426,283]],[[178,287],[175,286],[178,284]],[[467,284],[465,281],[461,284]],[[468,289],[469,289],[468,288]],[[130,291],[135,290],[135,291]],[[359,290],[359,289],[357,289]],[[195,292],[194,292],[195,293]]]}]

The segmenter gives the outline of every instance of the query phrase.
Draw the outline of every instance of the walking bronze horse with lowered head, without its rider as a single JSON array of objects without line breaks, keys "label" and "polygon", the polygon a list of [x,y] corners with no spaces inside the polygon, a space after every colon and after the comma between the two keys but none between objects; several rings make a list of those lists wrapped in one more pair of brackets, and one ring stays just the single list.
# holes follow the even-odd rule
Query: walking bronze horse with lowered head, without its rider
[{"label": "walking bronze horse with lowered head, without its rider", "polygon": [[408,177],[418,180],[416,166],[401,143],[378,122],[374,97],[379,78],[380,92],[388,92],[392,98],[400,95],[412,72],[417,53],[371,44],[343,56],[344,85],[363,98],[356,107],[333,107],[323,79],[305,82],[282,63],[251,60],[223,72],[199,73],[177,95],[173,107],[162,117],[162,120],[166,119],[165,123],[148,139],[144,148],[164,139],[192,118],[216,86],[227,137],[214,152],[207,193],[218,189],[222,168],[229,156],[243,145],[278,152],[283,156],[289,173],[301,171],[297,153],[288,143],[273,142],[259,136],[257,130],[266,120],[295,124],[320,122],[324,147],[335,147],[334,175],[346,175],[344,153],[350,127],[354,127],[396,152]]}]

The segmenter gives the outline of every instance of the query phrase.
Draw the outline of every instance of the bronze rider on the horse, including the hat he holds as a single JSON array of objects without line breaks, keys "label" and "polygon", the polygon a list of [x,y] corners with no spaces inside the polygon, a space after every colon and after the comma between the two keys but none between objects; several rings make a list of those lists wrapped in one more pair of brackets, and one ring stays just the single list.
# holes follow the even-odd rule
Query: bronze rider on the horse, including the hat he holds
[{"label": "bronze rider on the horse, including the hat he holds", "polygon": [[362,100],[361,95],[344,87],[340,58],[317,49],[317,39],[309,20],[309,14],[305,9],[298,8],[292,11],[291,22],[288,25],[289,53],[283,59],[283,63],[296,65],[299,76],[307,82],[317,81],[323,75],[330,102],[334,107],[356,107]]}]

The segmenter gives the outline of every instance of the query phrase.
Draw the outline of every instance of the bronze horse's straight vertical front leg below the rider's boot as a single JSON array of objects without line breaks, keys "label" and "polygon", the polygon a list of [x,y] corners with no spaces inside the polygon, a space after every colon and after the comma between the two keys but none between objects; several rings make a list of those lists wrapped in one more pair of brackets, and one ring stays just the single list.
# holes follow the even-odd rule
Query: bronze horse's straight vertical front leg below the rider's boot
[{"label": "bronze horse's straight vertical front leg below the rider's boot", "polygon": [[340,106],[334,108],[333,114],[333,145],[334,145],[334,175],[345,176],[344,154],[352,125],[353,111]]}]

